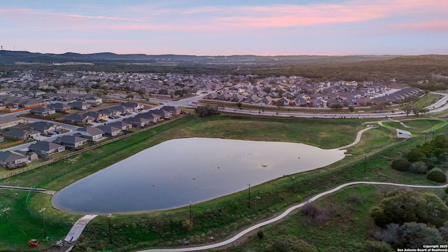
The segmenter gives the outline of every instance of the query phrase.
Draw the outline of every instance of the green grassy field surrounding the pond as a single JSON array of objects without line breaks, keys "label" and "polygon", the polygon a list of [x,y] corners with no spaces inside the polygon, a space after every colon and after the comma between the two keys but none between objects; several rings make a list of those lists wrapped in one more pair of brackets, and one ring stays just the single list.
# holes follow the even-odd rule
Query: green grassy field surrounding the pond
[{"label": "green grassy field surrounding the pond", "polygon": [[[406,123],[419,128],[419,132],[430,130],[434,125],[443,125],[444,123],[443,120],[429,121],[430,123],[423,119]],[[356,132],[363,129],[365,123],[367,123],[365,120],[247,118],[228,115],[197,119],[187,116],[168,125],[94,149],[89,153],[83,153],[62,162],[2,180],[1,184],[60,190],[80,178],[145,148],[167,139],[181,137],[290,141],[321,148],[337,148],[354,141]],[[436,134],[441,134],[445,130],[444,128],[438,129]],[[389,168],[389,163],[395,156],[423,141],[423,134],[421,137],[402,141],[395,138],[393,125],[378,127],[365,132],[360,144],[349,148],[347,153],[351,155],[344,160],[322,169],[286,176],[251,188],[253,201],[251,201],[250,209],[247,207],[246,191],[196,204],[192,207],[193,228],[191,230],[182,225],[183,221],[190,218],[188,207],[146,214],[113,215],[111,218],[113,244],[109,244],[108,218],[99,216],[87,226],[76,251],[132,251],[150,246],[202,244],[210,242],[210,237],[214,237],[214,240],[224,239],[233,232],[262,218],[277,214],[294,203],[302,202],[312,195],[347,181],[430,183],[424,176],[401,174]],[[364,154],[367,154],[366,160],[364,160]],[[364,172],[364,167],[366,172]],[[365,213],[370,206],[367,202],[376,199],[376,197],[370,196],[377,194],[374,189],[365,190],[363,198],[369,200],[365,201],[366,204],[356,204],[355,207],[360,209],[353,210],[358,212],[358,223],[362,223],[367,218]],[[332,196],[328,198],[332,198]],[[12,207],[12,210],[8,211],[8,223],[6,223],[4,213],[0,216],[0,235],[2,237],[0,250],[2,251],[27,250],[26,241],[28,239],[43,239],[43,220],[39,213],[43,207],[46,209],[44,211],[45,235],[49,237],[49,241],[43,241],[42,246],[36,249],[44,250],[54,244],[55,240],[62,239],[71,224],[80,217],[53,209],[48,195],[0,190],[0,199],[2,202],[0,207]],[[335,202],[342,201],[335,197]],[[300,218],[300,216],[293,215],[290,218]],[[353,223],[346,223],[346,225],[354,225]],[[328,221],[328,225],[334,226],[332,230],[328,231],[332,234],[328,235],[330,237],[337,236],[337,223]],[[282,226],[283,222],[279,224],[279,228],[283,229]],[[298,227],[302,227],[302,225]],[[311,230],[313,227],[314,230]],[[363,224],[363,227],[368,228],[368,223]],[[321,227],[311,225],[309,228],[309,232],[318,233],[318,229]],[[349,246],[347,244],[350,244],[349,241],[356,235],[356,232],[361,231],[353,230],[346,237],[339,237],[335,240],[328,239],[325,244],[319,246],[325,249],[332,246],[337,247],[342,241]],[[365,235],[365,232],[360,234]],[[274,239],[272,235],[267,235],[267,237]],[[321,235],[316,239],[309,237],[307,242],[316,246],[316,244],[321,244],[319,239],[323,239],[322,237]],[[357,241],[363,241],[366,237],[368,235],[361,236]],[[251,242],[258,241],[248,241],[248,245],[244,246],[251,246]]]}]

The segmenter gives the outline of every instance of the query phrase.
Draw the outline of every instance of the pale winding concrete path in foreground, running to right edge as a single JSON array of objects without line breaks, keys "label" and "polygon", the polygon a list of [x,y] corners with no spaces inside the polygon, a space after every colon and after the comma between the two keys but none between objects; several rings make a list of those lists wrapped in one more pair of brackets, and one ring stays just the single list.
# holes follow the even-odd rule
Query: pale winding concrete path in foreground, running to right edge
[{"label": "pale winding concrete path in foreground, running to right edge", "polygon": [[333,188],[326,192],[320,193],[314,197],[311,197],[311,199],[307,200],[306,202],[302,202],[300,204],[297,204],[293,207],[286,209],[286,211],[284,211],[279,216],[276,216],[275,218],[272,218],[268,221],[264,221],[262,223],[255,224],[255,225],[251,226],[250,228],[246,228],[245,230],[239,232],[234,237],[231,237],[230,239],[227,239],[225,241],[221,241],[216,244],[208,244],[208,245],[188,247],[188,248],[151,248],[151,249],[141,250],[139,252],[188,252],[188,251],[202,251],[202,250],[206,250],[206,249],[218,248],[221,246],[225,246],[225,245],[231,244],[234,241],[237,241],[237,239],[243,237],[244,235],[248,234],[249,232],[252,232],[253,230],[257,230],[258,228],[261,228],[262,226],[269,225],[271,223],[281,220],[282,218],[285,218],[286,216],[288,216],[288,214],[290,214],[295,209],[299,209],[300,207],[303,207],[306,204],[314,202],[315,200],[317,200],[320,197],[323,197],[330,193],[335,193],[337,190],[341,190],[342,188],[345,188],[347,186],[363,185],[363,184],[400,186],[400,187],[407,187],[407,188],[447,188],[448,187],[448,184],[445,184],[442,186],[421,186],[421,185],[406,185],[406,184],[399,184],[399,183],[370,182],[370,181],[358,181],[358,182],[344,183],[341,186],[337,186],[336,188]]}]

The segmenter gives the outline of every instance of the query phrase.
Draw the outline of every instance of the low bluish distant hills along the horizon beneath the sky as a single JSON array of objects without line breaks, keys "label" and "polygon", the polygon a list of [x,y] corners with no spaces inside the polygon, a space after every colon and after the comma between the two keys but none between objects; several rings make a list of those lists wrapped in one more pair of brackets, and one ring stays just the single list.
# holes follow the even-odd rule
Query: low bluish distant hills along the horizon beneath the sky
[{"label": "low bluish distant hills along the horizon beneath the sky", "polygon": [[21,63],[135,63],[151,64],[157,62],[173,63],[198,63],[198,64],[232,64],[246,63],[256,64],[263,62],[358,62],[372,59],[391,59],[395,56],[256,56],[256,55],[232,55],[232,56],[195,56],[195,55],[144,55],[130,54],[118,55],[112,52],[99,52],[92,54],[80,54],[66,52],[64,54],[39,53],[27,51],[0,50],[0,64]]}]

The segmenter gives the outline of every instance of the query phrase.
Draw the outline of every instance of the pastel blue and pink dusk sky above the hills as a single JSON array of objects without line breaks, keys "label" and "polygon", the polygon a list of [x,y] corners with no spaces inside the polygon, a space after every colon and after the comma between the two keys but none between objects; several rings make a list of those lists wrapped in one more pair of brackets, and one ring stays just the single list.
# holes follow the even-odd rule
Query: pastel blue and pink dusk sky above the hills
[{"label": "pastel blue and pink dusk sky above the hills", "polygon": [[445,7],[437,0],[6,0],[0,45],[55,54],[444,55]]}]

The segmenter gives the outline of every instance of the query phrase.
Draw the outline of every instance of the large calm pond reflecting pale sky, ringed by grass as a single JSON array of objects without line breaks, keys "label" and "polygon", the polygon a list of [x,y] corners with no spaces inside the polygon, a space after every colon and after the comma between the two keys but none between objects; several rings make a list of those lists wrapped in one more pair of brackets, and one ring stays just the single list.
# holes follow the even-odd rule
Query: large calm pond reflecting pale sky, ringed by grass
[{"label": "large calm pond reflecting pale sky, ringed by grass", "polygon": [[188,138],[165,141],[63,188],[52,198],[73,214],[173,209],[342,160],[305,144]]}]

